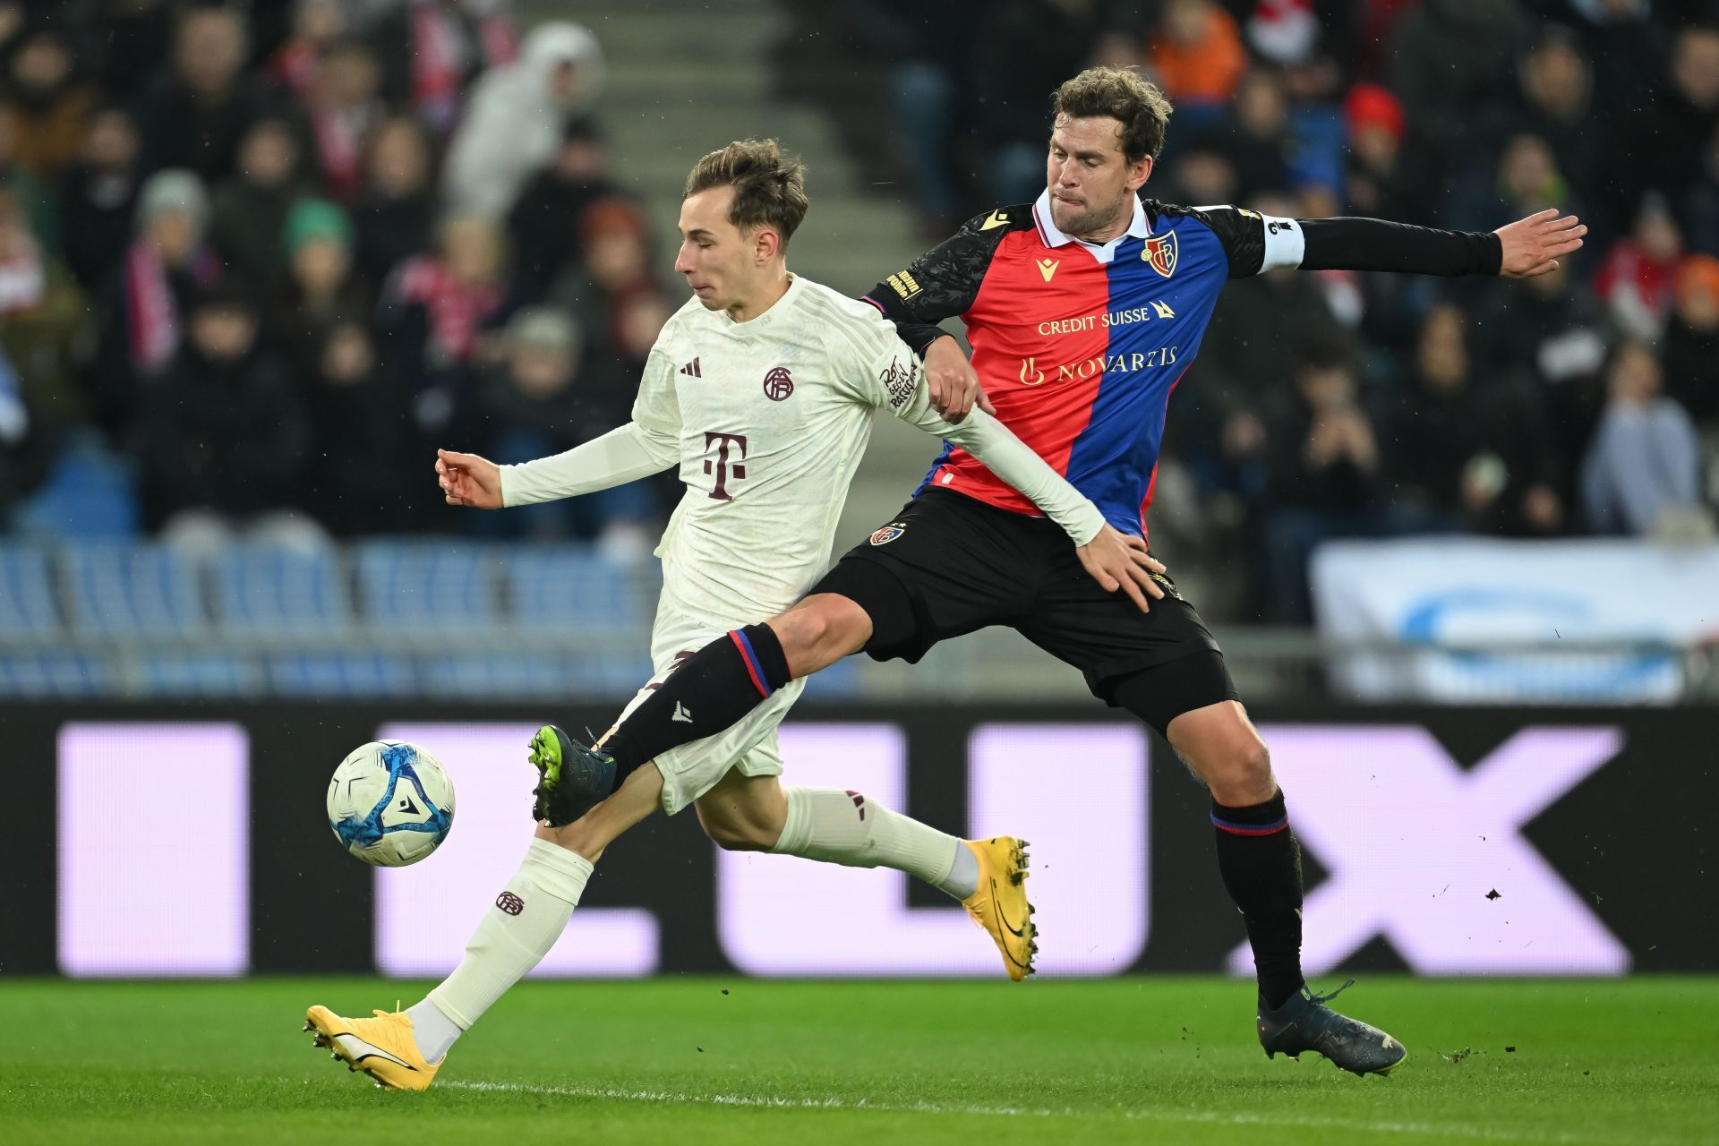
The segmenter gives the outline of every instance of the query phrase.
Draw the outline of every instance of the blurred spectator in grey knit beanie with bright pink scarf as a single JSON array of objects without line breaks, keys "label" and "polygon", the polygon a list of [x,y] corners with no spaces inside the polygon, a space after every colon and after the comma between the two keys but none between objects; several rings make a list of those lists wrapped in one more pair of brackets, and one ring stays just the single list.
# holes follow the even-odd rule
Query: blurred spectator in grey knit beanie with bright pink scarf
[{"label": "blurred spectator in grey knit beanie with bright pink scarf", "polygon": [[120,431],[138,383],[160,375],[179,352],[186,302],[220,278],[205,246],[208,196],[191,172],[156,172],[138,196],[136,237],[103,289],[89,392],[96,418]]}]

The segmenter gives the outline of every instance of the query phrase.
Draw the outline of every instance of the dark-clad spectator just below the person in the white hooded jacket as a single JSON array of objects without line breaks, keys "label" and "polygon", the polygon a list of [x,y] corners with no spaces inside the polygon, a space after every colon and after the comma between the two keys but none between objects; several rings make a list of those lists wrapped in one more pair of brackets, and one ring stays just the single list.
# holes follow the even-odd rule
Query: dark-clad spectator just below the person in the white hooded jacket
[{"label": "dark-clad spectator just below the person in the white hooded jacket", "polygon": [[609,149],[590,115],[571,120],[548,167],[526,184],[507,216],[517,259],[514,290],[521,302],[538,302],[569,263],[581,256],[579,220],[598,199],[615,194]]}]

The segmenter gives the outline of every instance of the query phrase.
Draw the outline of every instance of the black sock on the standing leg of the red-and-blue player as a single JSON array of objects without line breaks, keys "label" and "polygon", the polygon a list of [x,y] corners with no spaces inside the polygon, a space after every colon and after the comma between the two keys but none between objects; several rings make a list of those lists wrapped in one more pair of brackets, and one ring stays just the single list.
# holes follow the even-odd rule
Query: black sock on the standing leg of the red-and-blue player
[{"label": "black sock on the standing leg of the red-and-blue player", "polygon": [[1275,1010],[1301,990],[1301,845],[1279,790],[1263,804],[1212,801],[1217,869],[1248,924],[1260,997]]}]

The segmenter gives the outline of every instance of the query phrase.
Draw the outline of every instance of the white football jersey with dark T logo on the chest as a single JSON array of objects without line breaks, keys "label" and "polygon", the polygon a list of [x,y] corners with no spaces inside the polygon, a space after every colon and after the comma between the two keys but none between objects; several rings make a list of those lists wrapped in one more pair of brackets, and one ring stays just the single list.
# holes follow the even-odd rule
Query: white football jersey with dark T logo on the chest
[{"label": "white football jersey with dark T logo on the chest", "polygon": [[679,442],[686,495],[657,550],[665,593],[725,624],[799,600],[829,565],[877,409],[947,430],[875,308],[799,277],[744,323],[689,299],[633,407],[646,435]]}]

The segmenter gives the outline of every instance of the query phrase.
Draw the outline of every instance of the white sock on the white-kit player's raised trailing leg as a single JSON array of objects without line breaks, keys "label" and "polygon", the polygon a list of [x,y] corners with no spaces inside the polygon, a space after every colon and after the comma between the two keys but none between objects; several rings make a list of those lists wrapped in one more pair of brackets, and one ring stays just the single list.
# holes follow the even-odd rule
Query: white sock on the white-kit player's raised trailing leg
[{"label": "white sock on the white-kit player's raised trailing leg", "polygon": [[782,794],[787,795],[787,823],[772,852],[844,868],[894,868],[956,899],[966,899],[978,887],[978,861],[947,832],[894,813],[860,792],[782,789]]}]

